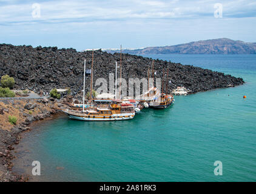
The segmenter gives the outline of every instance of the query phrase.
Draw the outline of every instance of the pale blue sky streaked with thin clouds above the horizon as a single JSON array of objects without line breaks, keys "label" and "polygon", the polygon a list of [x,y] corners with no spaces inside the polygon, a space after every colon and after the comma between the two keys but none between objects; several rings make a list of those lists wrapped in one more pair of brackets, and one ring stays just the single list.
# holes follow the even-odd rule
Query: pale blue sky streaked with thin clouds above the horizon
[{"label": "pale blue sky streaked with thin clouds above the horizon", "polygon": [[255,0],[0,0],[0,43],[6,44],[84,50],[255,37]]}]

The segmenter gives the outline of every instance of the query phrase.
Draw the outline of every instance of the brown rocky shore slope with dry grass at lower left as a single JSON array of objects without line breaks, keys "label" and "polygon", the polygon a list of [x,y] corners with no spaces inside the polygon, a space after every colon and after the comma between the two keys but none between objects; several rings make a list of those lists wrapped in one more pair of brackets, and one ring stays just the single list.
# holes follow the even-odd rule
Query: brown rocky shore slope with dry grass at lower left
[{"label": "brown rocky shore slope with dry grass at lower left", "polygon": [[[58,107],[56,101],[44,100],[4,100],[0,101],[1,115],[8,116],[16,112],[18,122],[11,126],[5,122],[5,125],[0,125],[0,182],[26,182],[29,181],[29,175],[18,175],[12,172],[14,166],[13,159],[15,159],[15,145],[19,144],[22,138],[22,133],[30,132],[33,126],[38,122],[45,121],[45,119],[54,119],[58,117],[59,111],[52,109]],[[28,110],[24,108],[24,104],[32,104],[35,106]],[[4,120],[3,120],[4,122]],[[2,129],[4,127],[4,129]]]}]

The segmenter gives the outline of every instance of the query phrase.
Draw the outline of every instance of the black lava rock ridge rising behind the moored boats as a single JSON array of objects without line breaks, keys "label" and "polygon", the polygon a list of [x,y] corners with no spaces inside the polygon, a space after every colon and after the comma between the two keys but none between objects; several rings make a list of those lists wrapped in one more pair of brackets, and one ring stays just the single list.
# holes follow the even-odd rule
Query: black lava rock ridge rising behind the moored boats
[{"label": "black lava rock ridge rising behind the moored boats", "polygon": [[[109,80],[109,73],[115,73],[115,61],[120,61],[120,54],[110,54],[96,50],[94,53],[93,82],[97,78]],[[34,92],[50,92],[53,88],[70,87],[72,94],[83,90],[84,59],[87,67],[92,64],[92,52],[76,52],[75,49],[57,47],[13,46],[0,44],[0,76],[8,74],[15,78],[16,89],[29,89]],[[124,54],[122,57],[123,78],[146,78],[147,69],[152,59]],[[156,78],[163,76],[162,70],[169,69],[168,93],[177,86],[184,86],[192,92],[201,92],[229,85],[240,85],[242,78],[235,78],[224,73],[201,69],[190,65],[175,64],[162,60],[155,61]],[[86,78],[89,90],[90,78]],[[165,91],[166,92],[166,91]]]}]

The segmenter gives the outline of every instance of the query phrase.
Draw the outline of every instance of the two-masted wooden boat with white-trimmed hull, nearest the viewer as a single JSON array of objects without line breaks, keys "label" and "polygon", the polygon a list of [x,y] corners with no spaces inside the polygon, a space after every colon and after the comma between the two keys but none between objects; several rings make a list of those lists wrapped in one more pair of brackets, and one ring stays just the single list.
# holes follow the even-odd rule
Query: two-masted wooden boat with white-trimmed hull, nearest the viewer
[{"label": "two-masted wooden boat with white-trimmed hull, nearest the viewer", "polygon": [[84,91],[83,91],[83,110],[62,110],[71,119],[81,121],[119,121],[133,119],[135,110],[132,104],[122,103],[121,100],[113,99],[110,104],[93,104],[92,85],[93,85],[93,54],[92,54],[92,70],[90,80],[90,105],[86,107],[84,104],[85,98],[85,76],[86,76],[86,60],[84,61]]}]

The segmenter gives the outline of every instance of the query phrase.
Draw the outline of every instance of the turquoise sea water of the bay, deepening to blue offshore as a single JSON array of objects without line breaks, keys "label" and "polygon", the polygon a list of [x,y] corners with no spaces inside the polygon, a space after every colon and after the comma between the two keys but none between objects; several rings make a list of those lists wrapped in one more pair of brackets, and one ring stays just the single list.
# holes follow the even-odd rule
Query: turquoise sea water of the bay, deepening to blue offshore
[{"label": "turquoise sea water of the bay, deepening to blue offshore", "polygon": [[[34,181],[256,181],[256,55],[153,55],[240,76],[245,85],[175,96],[129,121],[66,116],[25,133],[14,170]],[[243,95],[248,98],[243,99]],[[223,176],[214,175],[214,162]]]}]

